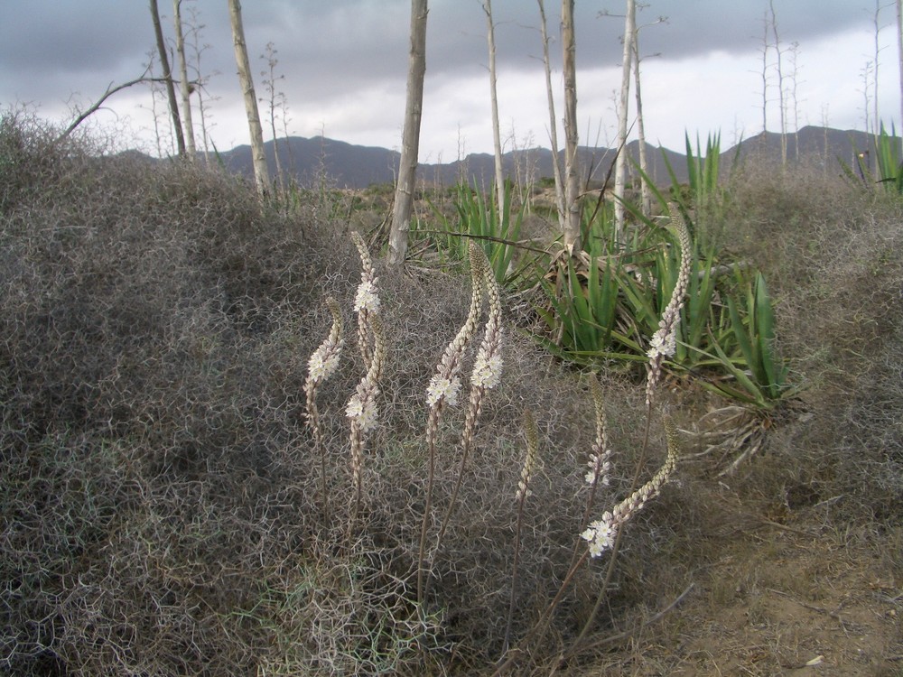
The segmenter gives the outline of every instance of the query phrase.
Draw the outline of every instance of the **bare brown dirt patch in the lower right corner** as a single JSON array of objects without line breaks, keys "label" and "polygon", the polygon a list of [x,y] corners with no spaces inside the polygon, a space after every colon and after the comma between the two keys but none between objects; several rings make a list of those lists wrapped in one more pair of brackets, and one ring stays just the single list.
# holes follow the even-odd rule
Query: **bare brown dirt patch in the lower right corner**
[{"label": "bare brown dirt patch in the lower right corner", "polygon": [[685,597],[582,674],[903,675],[899,532],[840,533],[813,516],[747,515],[713,534],[732,543]]}]

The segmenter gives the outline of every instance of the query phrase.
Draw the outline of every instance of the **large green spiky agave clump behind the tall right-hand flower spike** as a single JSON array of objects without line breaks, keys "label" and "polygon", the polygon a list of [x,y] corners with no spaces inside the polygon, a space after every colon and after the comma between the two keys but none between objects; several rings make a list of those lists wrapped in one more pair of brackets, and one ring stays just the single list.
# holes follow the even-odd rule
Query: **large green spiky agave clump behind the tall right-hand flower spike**
[{"label": "large green spiky agave clump behind the tall right-hand flower spike", "polygon": [[[710,139],[707,158],[717,157]],[[717,160],[692,159],[697,195],[712,196]],[[644,180],[648,180],[643,174]],[[650,182],[651,185],[651,182]],[[651,185],[663,209],[665,194]],[[668,227],[625,202],[637,227],[626,243],[615,243],[608,209],[584,224],[584,248],[561,257],[540,281],[543,302],[535,305],[545,333],[538,340],[556,356],[579,364],[645,359],[649,340],[671,297],[683,263],[681,247]],[[676,211],[694,230],[686,204]],[[673,217],[672,217],[673,218]],[[666,368],[692,373],[704,387],[734,402],[770,410],[796,390],[788,367],[775,353],[775,322],[764,277],[740,264],[722,264],[717,247],[694,238],[689,280],[676,346]]]}]

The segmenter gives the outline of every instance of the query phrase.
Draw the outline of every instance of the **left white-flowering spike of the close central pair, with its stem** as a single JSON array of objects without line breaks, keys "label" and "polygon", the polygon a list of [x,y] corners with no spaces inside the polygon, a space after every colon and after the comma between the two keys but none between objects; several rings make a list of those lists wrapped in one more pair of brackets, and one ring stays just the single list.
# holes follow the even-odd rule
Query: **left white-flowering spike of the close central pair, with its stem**
[{"label": "left white-flowering spike of the close central pair, with its stem", "polygon": [[478,254],[478,247],[470,243],[470,277],[472,291],[470,292],[470,311],[467,320],[458,331],[458,335],[445,348],[442,359],[436,367],[436,373],[430,379],[430,385],[426,389],[426,405],[429,413],[426,420],[426,446],[429,453],[429,468],[426,482],[426,505],[424,507],[424,520],[420,527],[420,550],[417,557],[417,599],[424,601],[424,559],[426,553],[426,533],[429,527],[430,510],[433,503],[433,480],[435,477],[436,462],[436,436],[439,431],[439,422],[442,419],[442,410],[445,405],[454,406],[458,403],[458,393],[461,391],[461,359],[464,350],[470,344],[470,339],[477,329],[479,311],[483,305],[483,277],[485,270],[481,265],[482,259]]}]

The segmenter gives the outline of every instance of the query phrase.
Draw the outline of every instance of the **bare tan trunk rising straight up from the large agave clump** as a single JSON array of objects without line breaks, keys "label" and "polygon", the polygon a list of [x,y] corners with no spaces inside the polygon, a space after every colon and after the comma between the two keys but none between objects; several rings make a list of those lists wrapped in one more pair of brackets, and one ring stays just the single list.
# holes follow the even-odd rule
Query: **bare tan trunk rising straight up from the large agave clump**
[{"label": "bare tan trunk rising straight up from the large agave clump", "polygon": [[564,76],[564,248],[574,255],[581,248],[580,181],[577,168],[577,43],[573,33],[573,0],[562,0]]}]

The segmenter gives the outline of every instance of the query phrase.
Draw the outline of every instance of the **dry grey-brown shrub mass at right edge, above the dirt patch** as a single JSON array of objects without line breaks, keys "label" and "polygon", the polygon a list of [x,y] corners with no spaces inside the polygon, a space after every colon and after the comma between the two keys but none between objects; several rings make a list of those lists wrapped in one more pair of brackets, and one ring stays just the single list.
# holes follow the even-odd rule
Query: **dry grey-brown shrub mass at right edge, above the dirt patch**
[{"label": "dry grey-brown shrub mass at right edge, above the dirt patch", "polygon": [[770,441],[782,490],[840,519],[900,515],[903,203],[839,169],[761,165],[731,201],[726,242],[768,277],[781,351],[807,385],[805,414]]}]

